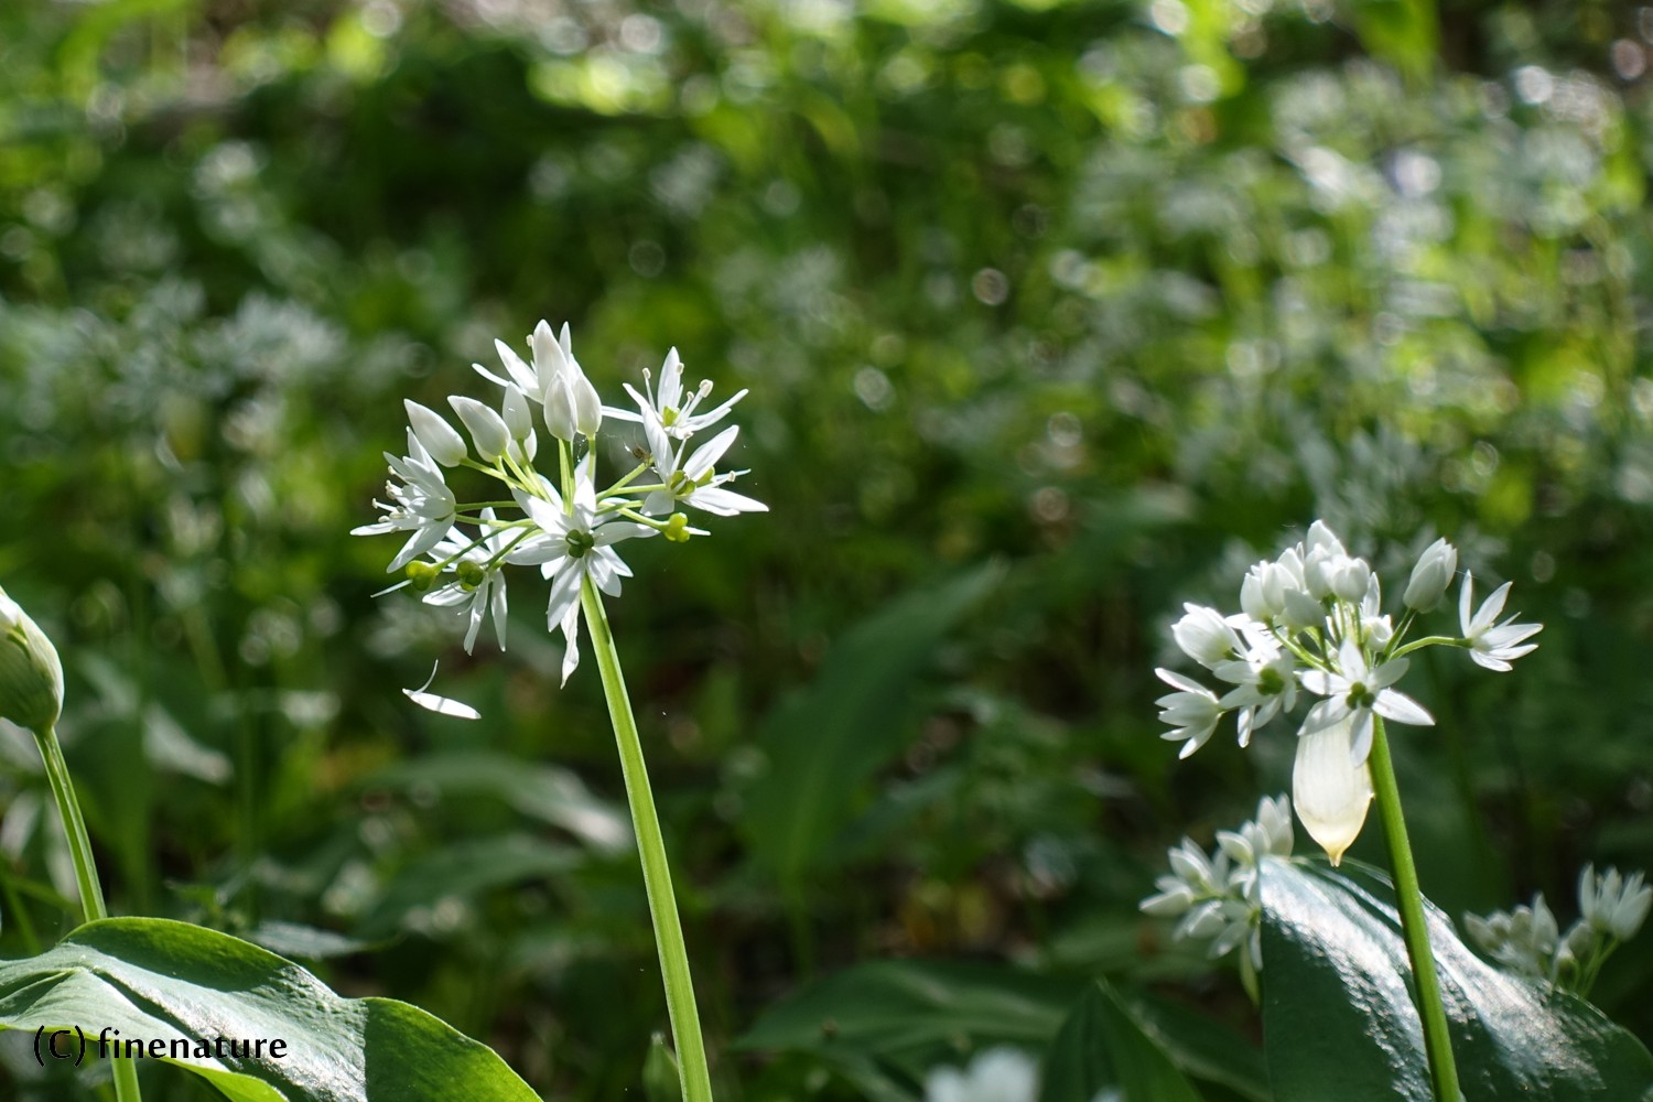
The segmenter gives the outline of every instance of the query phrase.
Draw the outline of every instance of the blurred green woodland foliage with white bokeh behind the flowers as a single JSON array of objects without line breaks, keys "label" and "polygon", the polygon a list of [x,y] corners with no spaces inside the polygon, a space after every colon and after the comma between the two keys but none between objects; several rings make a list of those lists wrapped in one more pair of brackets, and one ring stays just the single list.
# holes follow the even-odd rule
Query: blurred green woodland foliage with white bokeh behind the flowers
[{"label": "blurred green woodland foliage with white bokeh behind the flowers", "polygon": [[[0,578],[66,658],[114,910],[636,1095],[665,1008],[595,671],[555,689],[529,587],[466,661],[347,537],[400,398],[484,395],[468,363],[539,317],[610,400],[669,345],[752,390],[774,512],[641,545],[612,611],[726,1097],[856,1095],[734,1047],[856,960],[1255,1023],[1136,900],[1286,786],[1289,739],[1174,768],[1152,667],[1316,515],[1385,578],[1445,534],[1546,623],[1514,674],[1427,663],[1425,891],[1653,864],[1646,33],[1595,2],[0,7]],[[407,707],[435,654],[484,722]],[[20,955],[69,882],[0,734]],[[1653,1036],[1653,950],[1618,962],[1598,1000]],[[924,1057],[1036,1047],[967,1019]]]}]

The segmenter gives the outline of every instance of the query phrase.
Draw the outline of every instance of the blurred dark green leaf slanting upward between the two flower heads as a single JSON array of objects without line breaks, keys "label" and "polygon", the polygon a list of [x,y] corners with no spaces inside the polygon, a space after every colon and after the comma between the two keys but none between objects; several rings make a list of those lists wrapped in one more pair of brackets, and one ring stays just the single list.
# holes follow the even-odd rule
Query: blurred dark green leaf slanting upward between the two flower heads
[{"label": "blurred dark green leaf slanting upward between the two flower heads", "polygon": [[972,570],[860,623],[833,644],[815,682],[765,720],[770,765],[742,826],[752,856],[782,881],[803,879],[851,819],[866,780],[901,752],[909,682],[1000,573]]}]

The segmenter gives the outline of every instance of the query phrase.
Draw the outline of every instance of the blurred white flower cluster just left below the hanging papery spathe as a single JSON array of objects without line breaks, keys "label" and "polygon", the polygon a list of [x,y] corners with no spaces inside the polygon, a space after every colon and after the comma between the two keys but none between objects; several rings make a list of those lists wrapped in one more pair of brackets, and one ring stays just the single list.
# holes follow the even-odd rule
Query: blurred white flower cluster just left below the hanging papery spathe
[{"label": "blurred white flower cluster just left below the hanging papery spathe", "polygon": [[1263,796],[1256,818],[1238,831],[1217,831],[1217,849],[1205,851],[1187,838],[1167,851],[1170,876],[1154,881],[1159,891],[1141,902],[1146,914],[1180,922],[1172,937],[1210,938],[1212,960],[1241,943],[1253,971],[1263,968],[1263,899],[1258,862],[1265,856],[1291,856],[1291,803]]}]

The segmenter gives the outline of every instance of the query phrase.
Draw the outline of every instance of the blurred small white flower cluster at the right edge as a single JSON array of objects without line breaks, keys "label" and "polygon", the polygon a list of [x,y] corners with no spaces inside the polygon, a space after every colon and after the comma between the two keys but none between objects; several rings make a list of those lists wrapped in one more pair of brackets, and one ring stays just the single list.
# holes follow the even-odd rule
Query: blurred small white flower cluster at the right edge
[{"label": "blurred small white flower cluster at the right edge", "polygon": [[1465,927],[1488,957],[1511,971],[1589,995],[1602,963],[1636,935],[1650,905],[1653,886],[1645,884],[1640,872],[1622,877],[1618,869],[1598,874],[1595,866],[1585,866],[1579,874],[1580,915],[1567,933],[1560,932],[1542,892],[1532,895],[1531,905],[1514,910],[1484,919],[1465,915]]}]

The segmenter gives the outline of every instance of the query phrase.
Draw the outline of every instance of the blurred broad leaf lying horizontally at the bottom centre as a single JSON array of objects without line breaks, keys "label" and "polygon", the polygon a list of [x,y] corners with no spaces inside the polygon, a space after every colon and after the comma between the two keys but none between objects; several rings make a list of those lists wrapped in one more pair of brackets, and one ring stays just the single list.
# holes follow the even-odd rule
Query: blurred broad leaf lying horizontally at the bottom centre
[{"label": "blurred broad leaf lying horizontally at the bottom centre", "polygon": [[863,1081],[868,1061],[917,1077],[965,1041],[1046,1046],[1078,990],[1007,967],[881,960],[770,1006],[739,1047],[813,1052]]}]

